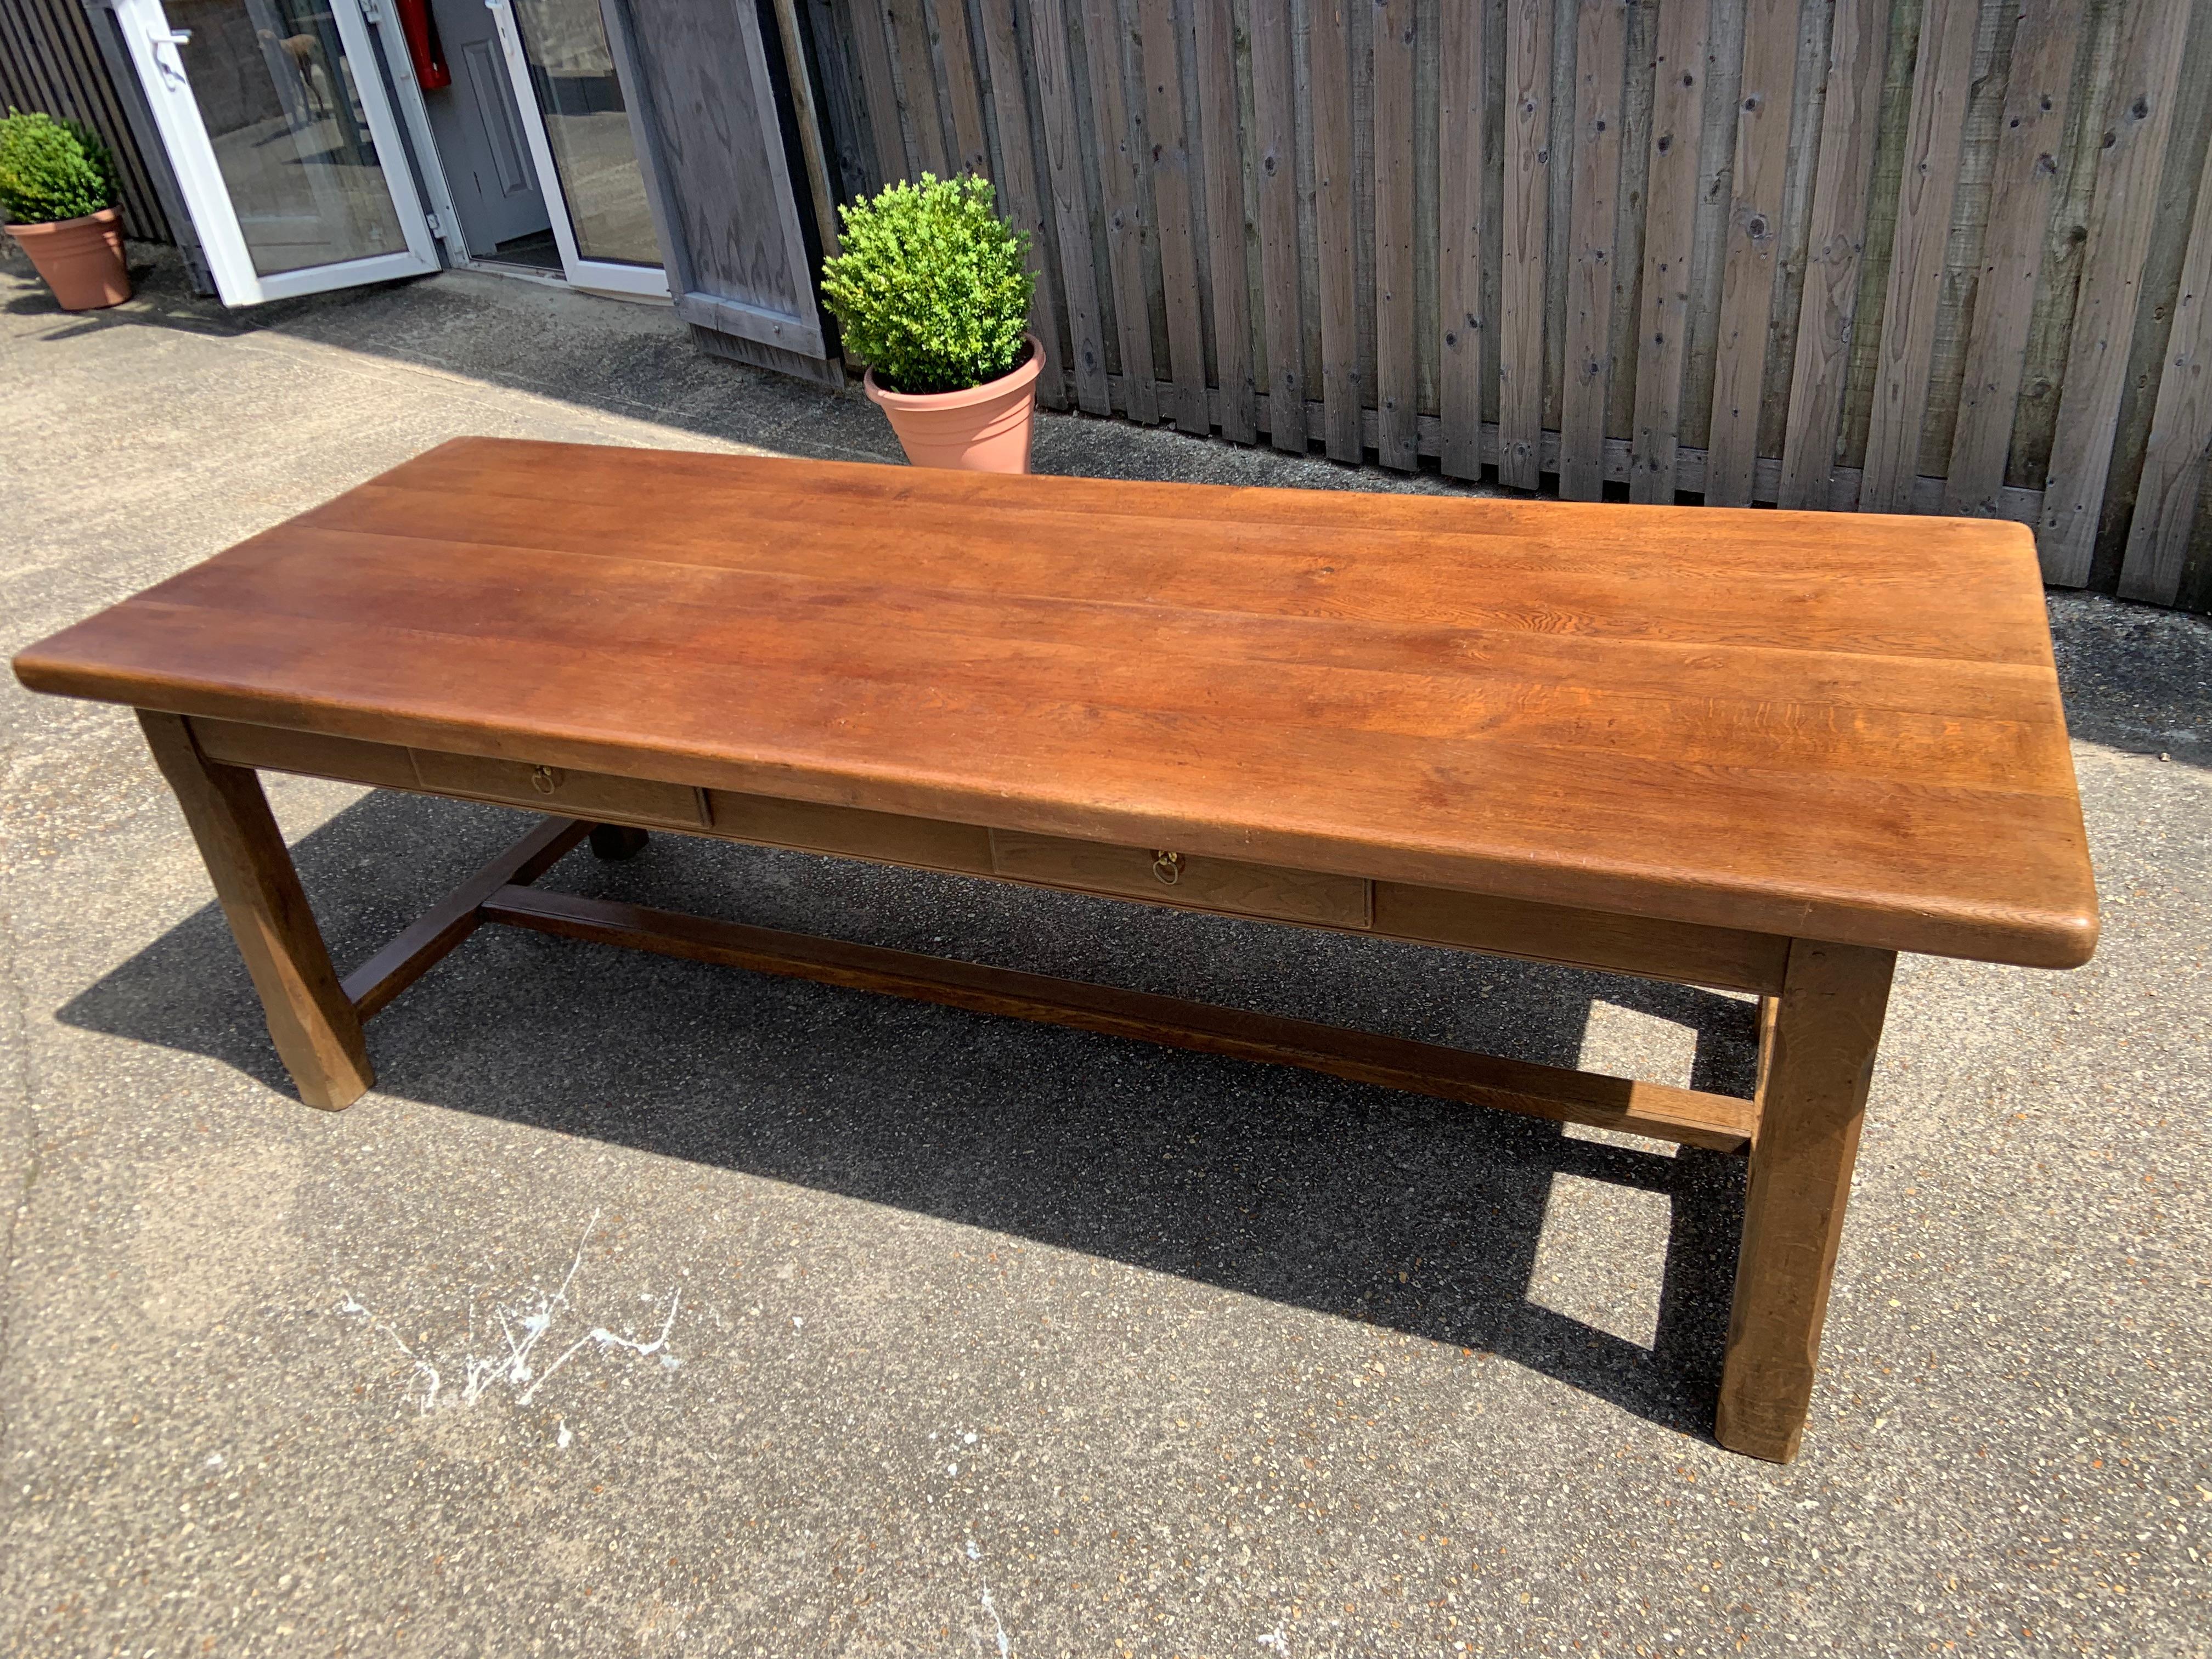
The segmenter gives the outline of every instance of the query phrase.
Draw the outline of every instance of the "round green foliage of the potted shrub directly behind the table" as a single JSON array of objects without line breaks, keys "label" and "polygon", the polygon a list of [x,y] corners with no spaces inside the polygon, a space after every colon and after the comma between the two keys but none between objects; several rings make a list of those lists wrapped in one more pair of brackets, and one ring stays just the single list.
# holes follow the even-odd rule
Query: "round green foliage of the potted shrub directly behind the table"
[{"label": "round green foliage of the potted shrub directly behind the table", "polygon": [[964,392],[1022,363],[1037,279],[989,179],[925,173],[838,217],[845,250],[823,261],[823,296],[878,385]]}]

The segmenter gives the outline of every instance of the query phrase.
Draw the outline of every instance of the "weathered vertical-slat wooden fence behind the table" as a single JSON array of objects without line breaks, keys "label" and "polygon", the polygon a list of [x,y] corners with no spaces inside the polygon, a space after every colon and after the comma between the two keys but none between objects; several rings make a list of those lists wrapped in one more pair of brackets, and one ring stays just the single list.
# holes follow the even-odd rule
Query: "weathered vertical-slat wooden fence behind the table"
[{"label": "weathered vertical-slat wooden fence behind the table", "polygon": [[1033,232],[1060,407],[2212,602],[2212,0],[803,4],[841,195]]}]

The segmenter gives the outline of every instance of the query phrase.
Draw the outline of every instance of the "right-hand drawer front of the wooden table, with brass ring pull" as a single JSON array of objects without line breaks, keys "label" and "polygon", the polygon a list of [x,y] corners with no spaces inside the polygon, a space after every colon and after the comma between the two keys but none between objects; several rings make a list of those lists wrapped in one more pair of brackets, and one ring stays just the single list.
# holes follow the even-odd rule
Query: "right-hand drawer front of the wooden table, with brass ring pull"
[{"label": "right-hand drawer front of the wooden table, with brass ring pull", "polygon": [[1106,841],[1064,841],[1011,830],[991,832],[991,872],[1040,887],[1146,898],[1228,916],[1265,916],[1314,927],[1374,927],[1374,883],[1312,869],[1245,865]]}]

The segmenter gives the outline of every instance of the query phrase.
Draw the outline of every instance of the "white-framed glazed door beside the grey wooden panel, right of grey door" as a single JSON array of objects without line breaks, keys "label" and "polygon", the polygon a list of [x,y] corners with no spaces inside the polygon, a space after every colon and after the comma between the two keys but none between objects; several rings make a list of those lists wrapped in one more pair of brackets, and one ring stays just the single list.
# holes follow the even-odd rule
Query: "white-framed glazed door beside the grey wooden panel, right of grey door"
[{"label": "white-framed glazed door beside the grey wooden panel, right of grey door", "polygon": [[[599,0],[484,0],[575,288],[668,299]],[[524,13],[524,15],[518,15]]]}]

